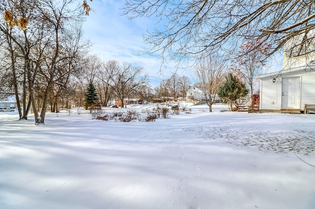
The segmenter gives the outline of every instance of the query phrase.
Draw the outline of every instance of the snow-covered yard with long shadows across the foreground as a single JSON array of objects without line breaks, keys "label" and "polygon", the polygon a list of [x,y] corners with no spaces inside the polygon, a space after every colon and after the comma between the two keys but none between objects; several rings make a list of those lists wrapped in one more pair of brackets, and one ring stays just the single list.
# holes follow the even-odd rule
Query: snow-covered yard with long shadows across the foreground
[{"label": "snow-covered yard with long shadows across the foreground", "polygon": [[73,109],[44,126],[1,113],[0,208],[315,208],[315,167],[298,158],[315,165],[315,114],[190,108],[129,123]]}]

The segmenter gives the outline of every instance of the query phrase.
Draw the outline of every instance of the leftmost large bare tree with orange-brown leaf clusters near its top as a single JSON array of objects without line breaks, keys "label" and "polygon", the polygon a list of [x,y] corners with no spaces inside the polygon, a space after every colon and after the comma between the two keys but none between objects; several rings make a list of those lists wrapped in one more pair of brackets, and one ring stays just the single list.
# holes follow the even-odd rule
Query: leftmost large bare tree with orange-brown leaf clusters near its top
[{"label": "leftmost large bare tree with orange-brown leaf clusters near its top", "polygon": [[[19,5],[19,6],[16,6]],[[35,101],[33,89],[33,81],[37,72],[34,70],[34,63],[38,60],[32,56],[32,49],[39,43],[43,37],[43,33],[38,32],[38,27],[43,28],[41,22],[36,22],[38,27],[25,27],[25,17],[34,20],[38,17],[39,12],[35,9],[35,4],[31,0],[11,1],[5,0],[0,2],[0,10],[3,11],[3,20],[5,23],[0,23],[0,31],[6,37],[6,45],[2,46],[9,52],[10,68],[12,72],[12,83],[15,88],[15,97],[17,100],[20,119],[28,119],[28,111],[31,101]],[[21,17],[21,18],[20,18]],[[13,23],[18,23],[16,20],[21,20],[19,29],[14,27]],[[32,34],[32,35],[31,35]],[[19,71],[20,69],[20,71]],[[16,84],[15,84],[16,83]],[[19,103],[18,83],[22,86],[22,104],[23,113]],[[29,100],[28,106],[26,101]],[[37,112],[34,113],[38,116]]]}]

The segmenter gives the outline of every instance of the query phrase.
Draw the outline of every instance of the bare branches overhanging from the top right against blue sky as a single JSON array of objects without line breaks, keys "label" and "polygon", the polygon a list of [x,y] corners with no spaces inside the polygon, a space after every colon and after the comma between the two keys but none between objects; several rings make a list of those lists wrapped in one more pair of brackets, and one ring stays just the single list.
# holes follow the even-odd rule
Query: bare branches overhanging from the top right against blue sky
[{"label": "bare branches overhanging from the top right against blue sky", "polygon": [[[144,35],[143,53],[182,64],[216,52],[237,56],[242,43],[254,40],[271,44],[269,57],[315,29],[314,13],[315,0],[126,0],[125,8],[131,19],[157,17],[156,28]],[[306,53],[305,46],[300,42],[296,51]]]}]

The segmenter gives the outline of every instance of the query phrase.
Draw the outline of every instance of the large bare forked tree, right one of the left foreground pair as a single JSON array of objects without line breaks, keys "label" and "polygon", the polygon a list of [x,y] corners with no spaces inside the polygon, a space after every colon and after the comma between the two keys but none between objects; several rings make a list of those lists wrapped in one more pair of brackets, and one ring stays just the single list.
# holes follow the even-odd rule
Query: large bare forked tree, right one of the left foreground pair
[{"label": "large bare forked tree, right one of the left foreground pair", "polygon": [[[47,36],[41,40],[44,43],[44,48],[41,48],[43,51],[41,63],[44,65],[38,64],[39,74],[44,78],[46,87],[40,117],[35,118],[36,123],[44,123],[52,87],[58,83],[60,77],[67,77],[66,75],[69,75],[69,71],[71,71],[71,69],[62,67],[62,61],[69,59],[69,53],[66,53],[65,49],[69,49],[73,45],[72,40],[68,39],[69,34],[72,34],[76,27],[83,22],[82,13],[78,8],[70,10],[72,3],[73,0],[64,0],[62,3],[44,0],[40,4],[36,4],[41,15],[40,20],[45,22],[47,27]],[[80,27],[79,30],[82,28]],[[78,39],[80,40],[80,38],[82,37],[80,36]],[[80,46],[80,42],[77,42],[75,48],[80,48]],[[74,52],[70,58],[75,54]]]}]

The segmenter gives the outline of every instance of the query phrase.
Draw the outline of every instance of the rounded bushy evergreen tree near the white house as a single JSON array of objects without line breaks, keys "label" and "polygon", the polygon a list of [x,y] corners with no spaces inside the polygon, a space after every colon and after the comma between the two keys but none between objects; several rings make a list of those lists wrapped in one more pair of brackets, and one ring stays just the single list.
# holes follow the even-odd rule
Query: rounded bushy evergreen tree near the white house
[{"label": "rounded bushy evergreen tree near the white house", "polygon": [[229,109],[232,110],[233,103],[241,97],[245,97],[249,93],[246,84],[239,78],[229,73],[225,77],[225,83],[219,86],[218,95],[229,105]]}]

